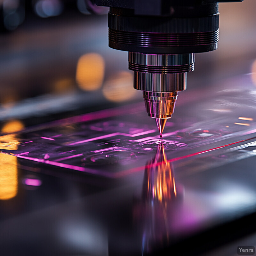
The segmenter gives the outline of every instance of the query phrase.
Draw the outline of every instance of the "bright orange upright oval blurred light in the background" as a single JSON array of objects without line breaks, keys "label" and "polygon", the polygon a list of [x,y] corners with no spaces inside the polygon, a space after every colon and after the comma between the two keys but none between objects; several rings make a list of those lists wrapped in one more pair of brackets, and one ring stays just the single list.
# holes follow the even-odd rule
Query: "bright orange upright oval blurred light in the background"
[{"label": "bright orange upright oval blurred light in the background", "polygon": [[100,89],[105,72],[105,61],[98,53],[87,53],[80,57],[76,68],[76,82],[84,91]]}]

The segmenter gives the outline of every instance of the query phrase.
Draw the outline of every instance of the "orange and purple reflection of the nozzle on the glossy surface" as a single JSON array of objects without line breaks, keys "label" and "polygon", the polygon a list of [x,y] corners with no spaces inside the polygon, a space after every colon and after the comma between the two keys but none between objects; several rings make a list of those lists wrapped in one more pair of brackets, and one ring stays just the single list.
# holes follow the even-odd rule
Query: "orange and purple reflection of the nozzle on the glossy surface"
[{"label": "orange and purple reflection of the nozzle on the glossy surface", "polygon": [[142,191],[145,207],[142,253],[152,253],[155,246],[161,248],[163,244],[169,243],[174,217],[172,210],[179,195],[172,164],[168,162],[161,143],[156,156],[145,168]]}]

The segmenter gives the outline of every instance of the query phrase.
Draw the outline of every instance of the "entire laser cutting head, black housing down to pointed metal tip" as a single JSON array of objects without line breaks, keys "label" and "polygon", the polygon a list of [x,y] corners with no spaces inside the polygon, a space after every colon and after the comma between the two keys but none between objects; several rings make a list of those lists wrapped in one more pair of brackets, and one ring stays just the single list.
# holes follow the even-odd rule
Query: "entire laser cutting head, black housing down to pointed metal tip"
[{"label": "entire laser cutting head, black housing down to pointed metal tip", "polygon": [[109,46],[129,52],[134,88],[143,91],[157,124],[172,116],[178,92],[186,89],[186,73],[194,70],[194,53],[217,49],[218,4],[231,1],[94,0],[110,7]]}]

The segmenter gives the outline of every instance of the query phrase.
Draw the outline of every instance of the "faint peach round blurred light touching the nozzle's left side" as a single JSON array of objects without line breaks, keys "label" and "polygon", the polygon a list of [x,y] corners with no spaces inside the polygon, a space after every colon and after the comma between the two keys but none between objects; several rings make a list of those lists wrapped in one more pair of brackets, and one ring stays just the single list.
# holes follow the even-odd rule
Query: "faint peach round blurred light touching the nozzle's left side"
[{"label": "faint peach round blurred light touching the nozzle's left side", "polygon": [[106,99],[114,102],[130,100],[135,95],[133,75],[131,72],[121,71],[108,79],[103,85],[103,94]]}]

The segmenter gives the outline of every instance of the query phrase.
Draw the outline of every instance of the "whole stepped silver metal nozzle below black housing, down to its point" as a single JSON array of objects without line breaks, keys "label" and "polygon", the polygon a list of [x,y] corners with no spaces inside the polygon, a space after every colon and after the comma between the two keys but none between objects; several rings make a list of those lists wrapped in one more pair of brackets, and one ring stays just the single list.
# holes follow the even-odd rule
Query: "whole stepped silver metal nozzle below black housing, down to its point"
[{"label": "whole stepped silver metal nozzle below black housing, down to its point", "polygon": [[194,53],[129,52],[129,69],[134,71],[134,88],[143,91],[148,115],[156,118],[161,135],[174,111],[178,92],[186,89],[187,72],[194,70]]}]

